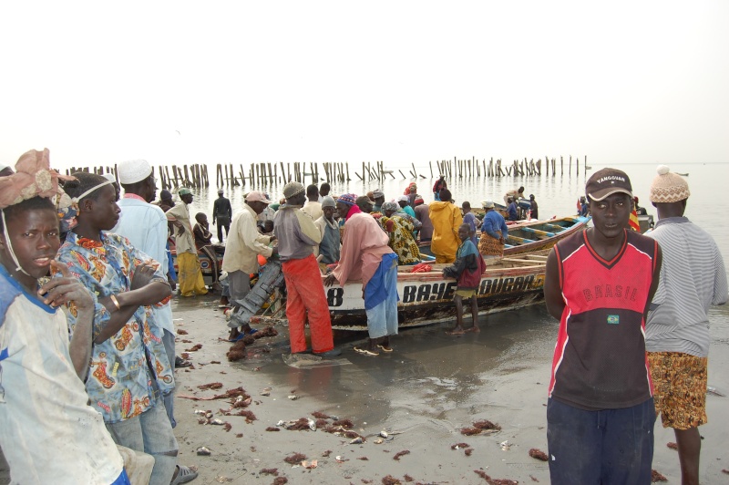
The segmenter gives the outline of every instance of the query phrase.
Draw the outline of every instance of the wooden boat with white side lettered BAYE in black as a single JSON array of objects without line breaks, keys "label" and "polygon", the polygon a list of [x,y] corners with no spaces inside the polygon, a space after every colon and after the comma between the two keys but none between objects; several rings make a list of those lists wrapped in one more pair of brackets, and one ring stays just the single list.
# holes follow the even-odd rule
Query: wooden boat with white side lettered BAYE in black
[{"label": "wooden boat with white side lettered BAYE in black", "polygon": [[[542,287],[549,250],[487,260],[477,300],[479,315],[514,310],[543,299]],[[399,326],[432,325],[454,320],[456,280],[443,277],[447,264],[433,264],[428,273],[410,273],[412,266],[397,268]],[[366,330],[362,283],[324,288],[332,314],[332,327]],[[469,312],[468,312],[469,313]]]}]

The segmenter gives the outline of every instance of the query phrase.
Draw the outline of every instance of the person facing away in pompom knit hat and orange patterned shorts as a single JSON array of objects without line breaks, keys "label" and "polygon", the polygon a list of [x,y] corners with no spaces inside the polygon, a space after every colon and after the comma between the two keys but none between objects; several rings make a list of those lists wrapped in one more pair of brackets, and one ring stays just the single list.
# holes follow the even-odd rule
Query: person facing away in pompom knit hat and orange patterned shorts
[{"label": "person facing away in pompom knit hat and orange patterned shorts", "polygon": [[[691,192],[668,167],[658,168],[651,201],[658,222],[646,236],[661,244],[661,282],[645,324],[655,412],[673,428],[682,483],[699,483],[701,435],[706,422],[709,306],[727,301],[724,259],[712,236],[683,216]],[[638,198],[635,198],[638,205]]]}]

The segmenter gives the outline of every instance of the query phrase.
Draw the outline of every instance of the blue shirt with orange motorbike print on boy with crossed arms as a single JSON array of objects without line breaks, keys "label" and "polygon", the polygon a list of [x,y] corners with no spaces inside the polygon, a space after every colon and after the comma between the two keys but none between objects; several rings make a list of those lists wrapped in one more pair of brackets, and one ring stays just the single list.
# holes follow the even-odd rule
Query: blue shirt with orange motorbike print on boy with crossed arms
[{"label": "blue shirt with orange motorbike print on boy with crossed arms", "polygon": [[[76,233],[69,232],[57,259],[99,297],[129,291],[135,268],[140,263],[153,262],[127,238],[111,232],[102,232],[101,242],[78,238]],[[167,278],[156,265],[153,281],[166,283]],[[73,307],[70,310],[68,325],[73,332],[76,315]],[[101,332],[108,319],[106,307],[97,304],[94,335]],[[139,416],[155,406],[159,392],[167,394],[174,387],[174,375],[162,344],[162,329],[155,324],[149,306],[139,306],[116,335],[94,345],[86,390],[91,405],[107,423]]]}]

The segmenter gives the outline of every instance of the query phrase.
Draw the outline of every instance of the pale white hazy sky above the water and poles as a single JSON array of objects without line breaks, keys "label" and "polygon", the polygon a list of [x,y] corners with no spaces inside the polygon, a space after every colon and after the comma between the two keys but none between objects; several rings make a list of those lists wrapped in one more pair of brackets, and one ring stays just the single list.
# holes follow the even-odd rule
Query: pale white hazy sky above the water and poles
[{"label": "pale white hazy sky above the water and poles", "polygon": [[4,2],[0,161],[729,161],[729,2]]}]

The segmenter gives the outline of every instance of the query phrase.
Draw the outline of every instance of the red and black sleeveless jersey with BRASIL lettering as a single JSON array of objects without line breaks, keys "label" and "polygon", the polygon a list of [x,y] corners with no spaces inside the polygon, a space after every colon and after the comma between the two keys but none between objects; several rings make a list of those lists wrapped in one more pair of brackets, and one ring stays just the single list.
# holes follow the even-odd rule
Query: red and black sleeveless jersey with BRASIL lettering
[{"label": "red and black sleeveless jersey with BRASIL lettering", "polygon": [[629,408],[652,397],[643,310],[657,243],[625,232],[603,260],[585,232],[555,246],[566,306],[552,360],[549,397],[576,408]]}]

